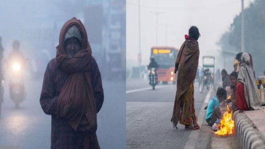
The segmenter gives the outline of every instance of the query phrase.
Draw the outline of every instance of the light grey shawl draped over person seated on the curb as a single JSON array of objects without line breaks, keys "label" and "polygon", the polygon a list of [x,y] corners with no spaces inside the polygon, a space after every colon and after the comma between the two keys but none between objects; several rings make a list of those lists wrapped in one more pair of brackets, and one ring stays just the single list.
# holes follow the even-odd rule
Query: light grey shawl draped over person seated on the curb
[{"label": "light grey shawl draped over person seated on the curb", "polygon": [[248,53],[244,52],[242,54],[237,79],[244,85],[245,98],[249,109],[262,109],[258,87],[252,70],[251,58]]}]

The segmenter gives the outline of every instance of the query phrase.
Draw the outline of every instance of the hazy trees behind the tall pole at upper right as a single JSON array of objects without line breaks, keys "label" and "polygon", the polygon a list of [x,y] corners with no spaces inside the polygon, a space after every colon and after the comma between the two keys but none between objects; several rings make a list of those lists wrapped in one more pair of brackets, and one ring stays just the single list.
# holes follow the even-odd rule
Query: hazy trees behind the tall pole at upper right
[{"label": "hazy trees behind the tall pole at upper right", "polygon": [[[234,18],[219,40],[222,50],[241,51],[241,15]],[[265,70],[265,0],[255,0],[244,9],[244,22],[245,52],[253,56],[256,75],[262,75]]]}]

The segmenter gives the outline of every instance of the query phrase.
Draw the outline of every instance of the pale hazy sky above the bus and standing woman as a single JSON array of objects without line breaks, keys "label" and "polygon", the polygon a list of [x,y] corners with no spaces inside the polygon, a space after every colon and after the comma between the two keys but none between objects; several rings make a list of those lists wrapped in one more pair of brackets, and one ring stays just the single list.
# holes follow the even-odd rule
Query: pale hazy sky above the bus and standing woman
[{"label": "pale hazy sky above the bus and standing woman", "polygon": [[[245,8],[254,0],[245,0]],[[199,28],[200,60],[203,55],[219,54],[216,45],[236,15],[241,12],[241,0],[140,0],[142,64],[149,63],[150,49],[156,45],[156,15],[158,15],[158,46],[180,48],[191,25]],[[126,64],[137,62],[139,52],[138,0],[126,0]],[[166,27],[167,26],[167,27]],[[138,65],[138,63],[134,63]]]}]

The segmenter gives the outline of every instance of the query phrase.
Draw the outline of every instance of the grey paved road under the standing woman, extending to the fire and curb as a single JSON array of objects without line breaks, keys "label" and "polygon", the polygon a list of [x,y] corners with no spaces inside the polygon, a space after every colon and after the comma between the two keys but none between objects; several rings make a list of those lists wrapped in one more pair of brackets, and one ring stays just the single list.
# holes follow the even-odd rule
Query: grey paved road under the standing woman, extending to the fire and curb
[{"label": "grey paved road under the standing woman, extending to the fire and curb", "polygon": [[[195,112],[201,129],[178,130],[170,122],[176,85],[158,85],[152,90],[148,81],[129,79],[126,81],[126,147],[127,149],[240,149],[236,135],[215,136],[204,121],[208,100],[215,91],[198,92],[195,87]],[[159,88],[160,87],[160,88]],[[144,88],[144,89],[140,89]]]}]

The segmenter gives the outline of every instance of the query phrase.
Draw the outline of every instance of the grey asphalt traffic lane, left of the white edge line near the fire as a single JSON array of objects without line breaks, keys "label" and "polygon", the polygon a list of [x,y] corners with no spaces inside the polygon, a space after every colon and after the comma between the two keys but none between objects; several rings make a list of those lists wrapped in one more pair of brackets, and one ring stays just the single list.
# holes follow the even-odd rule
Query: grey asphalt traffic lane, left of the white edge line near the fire
[{"label": "grey asphalt traffic lane, left of the white edge line near the fire", "polygon": [[[126,92],[149,86],[147,80],[127,80]],[[173,128],[170,122],[176,84],[158,85],[157,88],[126,93],[126,146],[140,149],[182,149],[191,131],[185,131],[183,125]],[[199,93],[195,88],[195,112],[203,105],[207,91]]]}]

